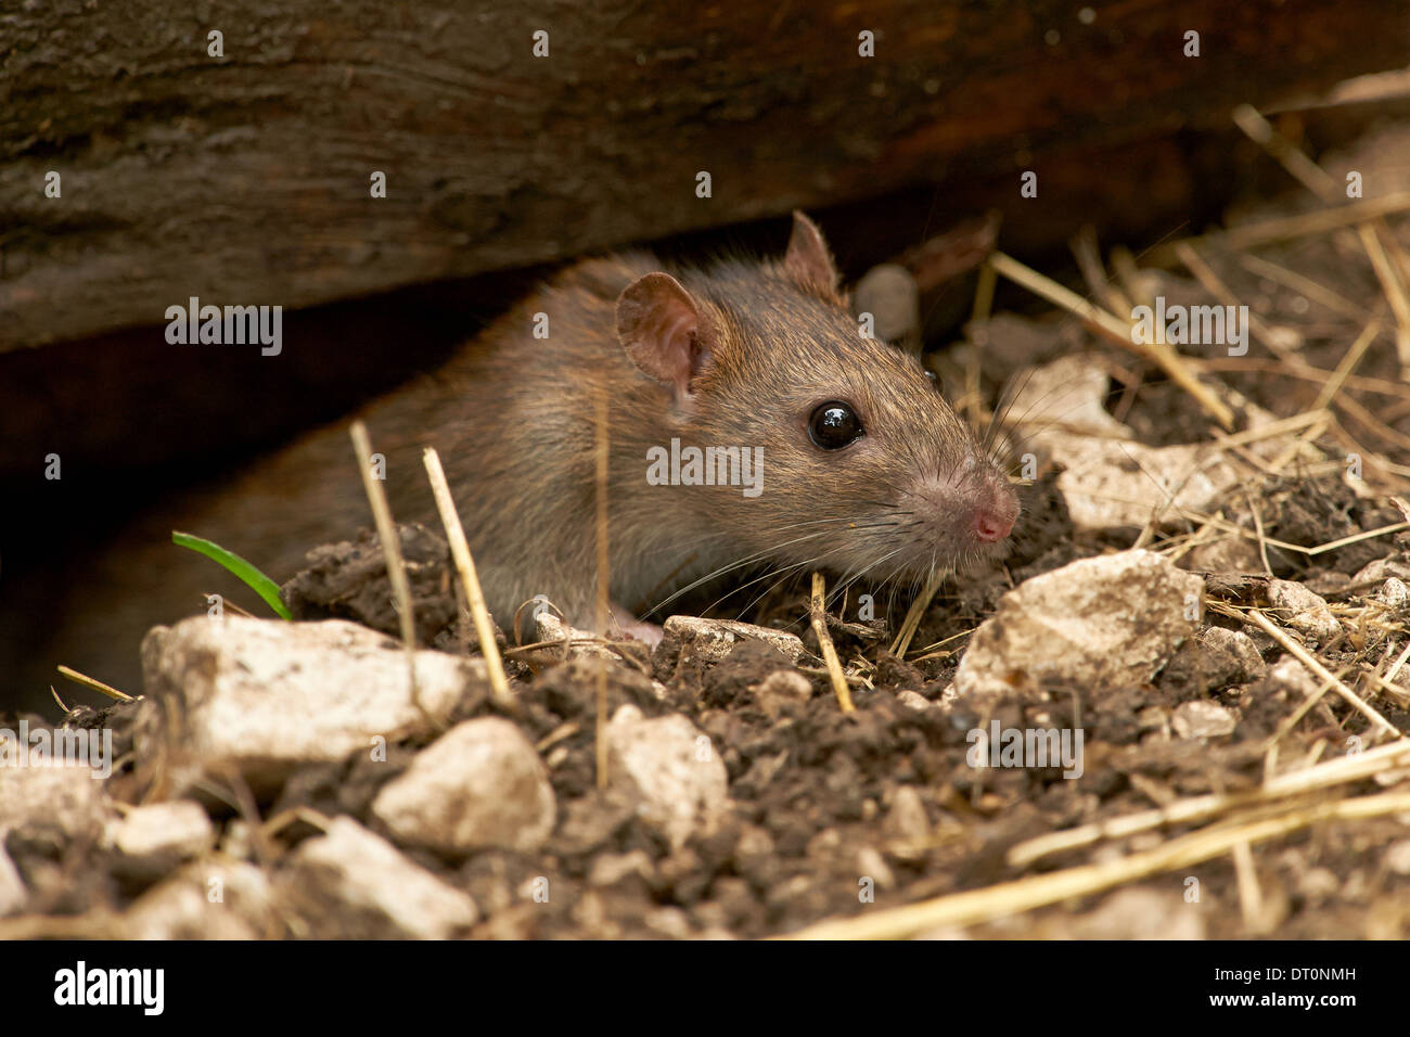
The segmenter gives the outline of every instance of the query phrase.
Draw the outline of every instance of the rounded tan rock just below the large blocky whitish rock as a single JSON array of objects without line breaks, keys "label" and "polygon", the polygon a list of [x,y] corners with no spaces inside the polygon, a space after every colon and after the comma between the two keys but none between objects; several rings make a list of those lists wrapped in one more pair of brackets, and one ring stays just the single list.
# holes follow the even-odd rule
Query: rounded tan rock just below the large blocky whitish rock
[{"label": "rounded tan rock just below the large blocky whitish rock", "polygon": [[481,717],[422,749],[378,793],[372,817],[402,845],[462,856],[488,847],[533,852],[553,832],[557,810],[548,772],[523,732]]}]

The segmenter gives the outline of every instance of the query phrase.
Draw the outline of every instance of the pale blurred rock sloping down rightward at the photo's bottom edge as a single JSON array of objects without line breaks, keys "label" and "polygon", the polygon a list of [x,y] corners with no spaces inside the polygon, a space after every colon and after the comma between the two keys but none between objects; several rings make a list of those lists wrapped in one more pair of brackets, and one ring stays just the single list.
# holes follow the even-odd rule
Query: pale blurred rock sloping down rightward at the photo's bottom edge
[{"label": "pale blurred rock sloping down rightward at the photo's bottom edge", "polygon": [[348,817],[300,842],[278,887],[314,937],[448,940],[479,917],[465,893]]}]

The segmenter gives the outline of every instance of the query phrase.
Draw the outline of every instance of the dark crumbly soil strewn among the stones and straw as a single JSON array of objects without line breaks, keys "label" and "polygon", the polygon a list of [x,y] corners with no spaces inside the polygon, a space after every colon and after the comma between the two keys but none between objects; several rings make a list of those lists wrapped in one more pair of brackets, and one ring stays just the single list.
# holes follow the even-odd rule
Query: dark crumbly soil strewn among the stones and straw
[{"label": "dark crumbly soil strewn among the stones and straw", "polygon": [[[1273,214],[1265,210],[1265,216]],[[1407,241],[1400,233],[1403,243]],[[1276,264],[1296,269],[1371,312],[1379,285],[1366,264],[1352,264],[1335,237],[1307,238],[1290,245],[1261,250]],[[1299,357],[1321,370],[1332,370],[1359,332],[1359,323],[1272,281],[1248,274],[1238,255],[1213,255],[1211,265],[1231,291],[1249,301],[1265,320],[1293,327],[1303,336]],[[1197,285],[1187,285],[1198,291]],[[1074,337],[1070,319],[1039,323],[1052,343]],[[1163,381],[1155,368],[1132,360],[1100,340],[1076,334],[1089,348],[1105,351],[1128,378],[1112,378],[1110,409],[1128,423],[1141,442],[1152,446],[1208,440],[1208,420],[1182,389]],[[1056,353],[1062,347],[1055,346]],[[1255,356],[1251,353],[1251,357]],[[1265,354],[1266,356],[1266,354]],[[1004,375],[1011,371],[990,372]],[[1399,382],[1400,368],[1389,339],[1372,348],[1356,368],[1366,378]],[[1231,365],[1211,375],[1238,389],[1276,416],[1307,409],[1321,385],[1317,381]],[[987,378],[993,394],[997,378]],[[1385,416],[1393,432],[1410,436],[1410,389],[1399,399],[1348,385],[1344,392]],[[1390,408],[1390,409],[1387,409]],[[1355,426],[1352,426],[1355,427]],[[1410,464],[1404,444],[1365,427],[1366,453],[1392,466]],[[1328,456],[1347,453],[1345,442],[1327,435],[1317,440]],[[1371,471],[1373,466],[1368,466]],[[627,662],[605,663],[608,710],[632,704],[647,717],[678,712],[709,736],[729,775],[732,814],[713,831],[673,851],[650,825],[636,817],[632,803],[595,787],[594,727],[598,711],[595,660],[532,667],[513,652],[508,669],[515,681],[520,712],[513,717],[530,741],[543,749],[560,820],[547,847],[533,855],[486,851],[465,861],[446,861],[410,854],[474,896],[484,921],[475,935],[486,937],[675,937],[729,934],[763,937],[801,930],[812,923],[859,914],[876,906],[900,906],[926,897],[973,890],[1059,868],[1110,859],[1112,852],[1149,848],[1187,831],[1173,825],[1142,837],[1097,844],[1042,858],[1015,868],[1007,851],[1025,839],[1094,821],[1146,811],[1172,800],[1204,793],[1256,789],[1263,780],[1268,739],[1296,710],[1300,697],[1266,676],[1251,677],[1244,660],[1207,642],[1187,641],[1149,683],[1108,691],[1081,687],[1049,687],[1041,700],[979,704],[957,698],[946,710],[925,708],[939,703],[963,653],[964,633],[990,615],[998,598],[1034,576],[1074,559],[1125,549],[1131,536],[1084,535],[1074,530],[1060,495],[1055,471],[1045,471],[1024,490],[1022,518],[1003,566],[952,583],[936,595],[912,639],[909,657],[888,652],[890,638],[870,636],[856,624],[835,622],[830,635],[842,660],[866,676],[853,687],[856,711],[838,708],[821,663],[790,663],[761,642],[742,642],[712,667],[678,666],[670,650],[649,660],[644,652]],[[1368,481],[1371,477],[1368,475]],[[1404,494],[1404,481],[1393,468],[1375,471],[1372,495],[1354,492],[1340,471],[1310,473],[1297,466],[1282,474],[1249,477],[1246,501],[1231,499],[1225,518],[1251,528],[1256,507],[1263,535],[1303,546],[1341,540],[1363,530],[1403,521],[1389,495]],[[1149,546],[1160,549],[1169,538],[1191,532],[1172,525],[1159,530]],[[403,535],[413,562],[419,636],[446,650],[465,650],[475,643],[451,597],[448,554],[433,530]],[[1318,659],[1332,672],[1379,665],[1392,645],[1402,648],[1410,617],[1369,615],[1373,586],[1356,584],[1369,563],[1392,559],[1410,564],[1410,535],[1359,540],[1308,556],[1270,546],[1272,576],[1300,581],[1325,595],[1338,615],[1351,617],[1344,633],[1317,648]],[[319,550],[313,569],[286,587],[299,617],[340,615],[398,633],[381,554],[375,540],[329,546]],[[1211,595],[1224,601],[1256,601],[1266,590],[1268,573],[1213,573]],[[1261,590],[1259,581],[1263,581]],[[697,602],[698,604],[698,602]],[[908,605],[904,597],[878,602],[878,617],[894,632]],[[689,602],[681,611],[688,611]],[[1358,610],[1362,610],[1358,612]],[[790,629],[814,655],[816,636],[805,618],[807,595],[799,586],[781,586],[743,614],[726,605],[718,615]],[[510,626],[509,617],[498,617]],[[1263,662],[1285,656],[1270,636],[1211,611],[1206,626],[1239,629],[1252,636]],[[501,638],[508,648],[509,642]],[[629,653],[630,655],[630,653]],[[797,672],[811,696],[778,690],[777,672]],[[1404,679],[1402,677],[1402,681]],[[657,681],[657,683],[653,683]],[[661,691],[664,687],[664,694]],[[1400,700],[1373,697],[1375,708],[1400,732],[1410,734],[1410,712]],[[1187,703],[1213,703],[1228,710],[1232,732],[1206,738],[1172,734],[1170,720]],[[79,724],[111,724],[117,752],[124,751],[121,705],[103,714],[79,711]],[[474,712],[492,712],[486,698]],[[1005,728],[1080,728],[1086,739],[1084,773],[1065,779],[1059,768],[974,769],[966,756],[967,732],[998,721]],[[1328,696],[1280,739],[1283,759],[1316,759],[1340,753],[1348,738],[1366,736],[1368,721],[1340,698]],[[551,746],[551,748],[547,748]],[[361,758],[338,766],[314,766],[299,773],[281,797],[264,804],[272,815],[307,806],[324,814],[367,817],[378,787],[395,777],[417,746],[396,746],[391,765],[371,766]],[[1379,790],[1373,780],[1347,789]],[[295,824],[279,839],[296,842],[312,834]],[[1347,938],[1410,935],[1410,869],[1387,866],[1386,849],[1410,834],[1404,815],[1323,823],[1251,847],[1261,887],[1261,914],[1245,914],[1232,856],[1214,858],[1183,871],[1145,879],[1139,887],[1146,917],[1132,917],[1129,889],[1066,900],[966,930],[974,937],[1127,937],[1153,927],[1169,934],[1175,923],[1162,916],[1186,902],[1189,880],[1197,879],[1197,935],[1232,938]],[[21,872],[59,852],[42,839],[11,834],[6,849]],[[603,863],[612,868],[605,869]],[[611,880],[595,883],[611,871]],[[548,878],[556,890],[551,904],[523,906],[519,889]],[[876,904],[859,899],[859,876],[874,880]],[[78,879],[75,878],[78,882]],[[140,887],[130,882],[104,885],[83,880],[78,899],[92,909],[106,900],[114,909]],[[47,904],[48,910],[75,909],[76,900]],[[953,935],[942,931],[938,935]]]}]

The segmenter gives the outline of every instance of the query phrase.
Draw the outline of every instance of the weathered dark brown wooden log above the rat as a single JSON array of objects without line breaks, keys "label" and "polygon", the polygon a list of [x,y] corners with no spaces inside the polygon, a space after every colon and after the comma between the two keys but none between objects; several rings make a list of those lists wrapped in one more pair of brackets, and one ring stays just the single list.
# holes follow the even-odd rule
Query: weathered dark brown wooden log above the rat
[{"label": "weathered dark brown wooden log above the rat", "polygon": [[0,11],[0,348],[1041,171],[1404,62],[1400,0],[171,7]]}]

